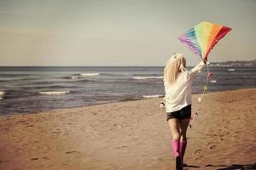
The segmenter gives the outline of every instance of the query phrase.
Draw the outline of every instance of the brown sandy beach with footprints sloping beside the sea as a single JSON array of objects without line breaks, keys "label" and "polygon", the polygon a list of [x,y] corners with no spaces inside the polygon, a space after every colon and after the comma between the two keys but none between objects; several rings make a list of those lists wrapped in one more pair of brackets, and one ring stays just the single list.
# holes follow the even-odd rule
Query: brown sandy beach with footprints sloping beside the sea
[{"label": "brown sandy beach with footprints sloping beside the sea", "polygon": [[[160,100],[0,117],[0,169],[174,169]],[[255,169],[255,101],[256,88],[206,94],[188,130],[185,169]]]}]

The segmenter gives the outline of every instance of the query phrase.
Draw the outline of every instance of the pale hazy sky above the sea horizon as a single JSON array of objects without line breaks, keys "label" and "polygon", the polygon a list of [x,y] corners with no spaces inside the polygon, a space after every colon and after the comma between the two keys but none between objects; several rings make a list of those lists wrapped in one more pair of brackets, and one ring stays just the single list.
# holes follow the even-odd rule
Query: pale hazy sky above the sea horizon
[{"label": "pale hazy sky above the sea horizon", "polygon": [[210,62],[256,59],[255,0],[0,0],[0,65],[163,66],[203,20],[232,27]]}]

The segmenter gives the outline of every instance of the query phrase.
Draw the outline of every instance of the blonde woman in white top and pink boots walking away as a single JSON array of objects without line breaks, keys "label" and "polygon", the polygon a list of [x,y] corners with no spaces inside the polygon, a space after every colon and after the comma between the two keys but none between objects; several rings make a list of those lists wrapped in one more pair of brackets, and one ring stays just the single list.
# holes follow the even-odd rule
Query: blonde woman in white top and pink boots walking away
[{"label": "blonde woman in white top and pink boots walking away", "polygon": [[191,85],[205,65],[206,61],[201,61],[191,71],[187,71],[183,54],[173,54],[164,71],[166,120],[171,127],[172,150],[178,170],[183,169],[187,146],[186,133],[191,117]]}]

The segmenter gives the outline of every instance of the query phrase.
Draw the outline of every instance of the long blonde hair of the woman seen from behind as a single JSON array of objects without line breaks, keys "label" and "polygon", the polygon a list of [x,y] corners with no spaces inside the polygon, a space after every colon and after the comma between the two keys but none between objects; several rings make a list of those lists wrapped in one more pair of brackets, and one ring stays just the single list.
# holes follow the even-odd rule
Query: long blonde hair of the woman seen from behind
[{"label": "long blonde hair of the woman seen from behind", "polygon": [[180,72],[186,71],[186,59],[183,54],[173,54],[166,63],[164,70],[164,82],[172,84],[177,80]]}]

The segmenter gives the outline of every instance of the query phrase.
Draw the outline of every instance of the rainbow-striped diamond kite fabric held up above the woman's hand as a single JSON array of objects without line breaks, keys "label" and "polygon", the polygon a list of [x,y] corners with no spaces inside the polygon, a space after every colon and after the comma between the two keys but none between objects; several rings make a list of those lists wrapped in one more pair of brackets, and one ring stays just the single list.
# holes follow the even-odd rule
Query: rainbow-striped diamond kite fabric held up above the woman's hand
[{"label": "rainbow-striped diamond kite fabric held up above the woman's hand", "polygon": [[194,28],[178,37],[178,39],[188,45],[201,59],[207,60],[207,56],[215,44],[229,31],[231,31],[229,27],[202,21]]}]

